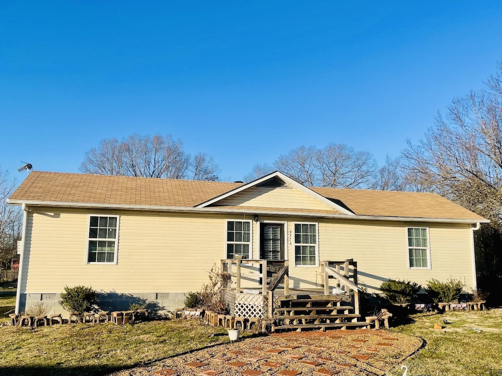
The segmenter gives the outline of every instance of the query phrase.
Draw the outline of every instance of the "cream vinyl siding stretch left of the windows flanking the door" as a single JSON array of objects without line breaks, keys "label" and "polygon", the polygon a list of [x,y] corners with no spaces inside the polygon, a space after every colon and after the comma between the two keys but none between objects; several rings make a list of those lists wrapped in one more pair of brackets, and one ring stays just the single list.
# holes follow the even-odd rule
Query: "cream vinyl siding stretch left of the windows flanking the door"
[{"label": "cream vinyl siding stretch left of the windows flanking the door", "polygon": [[208,282],[211,265],[225,258],[227,217],[91,214],[120,216],[117,264],[85,263],[87,213],[34,213],[26,292],[61,292],[66,284],[116,292],[195,291]]}]

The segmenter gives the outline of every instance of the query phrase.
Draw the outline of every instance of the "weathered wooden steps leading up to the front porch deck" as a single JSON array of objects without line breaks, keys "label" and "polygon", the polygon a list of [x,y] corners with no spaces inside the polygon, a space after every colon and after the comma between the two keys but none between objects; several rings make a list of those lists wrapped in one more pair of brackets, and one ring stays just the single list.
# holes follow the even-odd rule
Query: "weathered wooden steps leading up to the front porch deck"
[{"label": "weathered wooden steps leading up to the front porch deck", "polygon": [[359,321],[361,315],[351,313],[353,309],[334,296],[282,300],[281,307],[274,308],[272,331],[367,327],[367,322]]}]

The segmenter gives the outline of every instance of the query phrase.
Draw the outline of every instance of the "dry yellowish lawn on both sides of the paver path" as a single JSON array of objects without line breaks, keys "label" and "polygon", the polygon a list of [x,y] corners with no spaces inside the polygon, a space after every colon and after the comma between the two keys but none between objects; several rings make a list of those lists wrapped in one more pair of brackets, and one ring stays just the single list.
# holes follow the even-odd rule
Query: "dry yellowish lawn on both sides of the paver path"
[{"label": "dry yellowish lawn on both sides of the paver path", "polygon": [[[12,291],[0,294],[0,314],[14,304]],[[2,321],[8,320],[0,318]],[[436,323],[443,328],[433,329]],[[502,309],[417,314],[406,325],[392,329],[426,340],[424,348],[402,362],[410,376],[502,376],[501,330]],[[208,336],[215,331],[215,336]],[[197,320],[127,326],[65,324],[33,330],[2,326],[0,336],[0,375],[10,376],[104,375],[228,342],[225,330]],[[401,376],[403,370],[398,366],[386,374]]]}]

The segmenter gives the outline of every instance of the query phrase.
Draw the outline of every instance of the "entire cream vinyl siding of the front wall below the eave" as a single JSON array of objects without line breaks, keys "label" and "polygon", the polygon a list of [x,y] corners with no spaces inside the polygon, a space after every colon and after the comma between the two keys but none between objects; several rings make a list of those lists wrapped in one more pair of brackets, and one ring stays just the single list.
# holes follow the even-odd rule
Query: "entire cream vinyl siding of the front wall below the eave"
[{"label": "entire cream vinyl siding of the front wall below the eave", "polygon": [[[118,215],[116,265],[87,265],[88,218]],[[65,285],[86,285],[120,292],[188,292],[208,282],[207,272],[226,258],[226,220],[244,215],[167,214],[133,211],[35,209],[27,220],[21,293],[58,293]],[[378,289],[388,278],[416,281],[461,279],[473,285],[468,225],[342,221],[261,216],[286,222],[286,253],[291,287],[322,287],[320,267],[294,266],[294,223],[318,223],[319,261],[358,263],[359,284]],[[252,221],[253,258],[260,257],[259,224]],[[428,227],[431,269],[410,269],[406,227]],[[28,275],[25,273],[28,271]],[[257,272],[243,268],[241,287],[257,286]],[[27,279],[25,279],[27,278]],[[334,287],[334,286],[331,286]]]}]

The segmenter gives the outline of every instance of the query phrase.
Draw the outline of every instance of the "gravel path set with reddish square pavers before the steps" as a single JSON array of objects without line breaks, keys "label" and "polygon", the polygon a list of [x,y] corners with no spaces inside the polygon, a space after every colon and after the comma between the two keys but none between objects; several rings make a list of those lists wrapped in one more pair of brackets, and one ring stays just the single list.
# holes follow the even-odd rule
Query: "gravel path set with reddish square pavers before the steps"
[{"label": "gravel path set with reddish square pavers before the steps", "polygon": [[275,333],[196,350],[110,376],[383,376],[421,346],[420,338],[387,330]]}]

